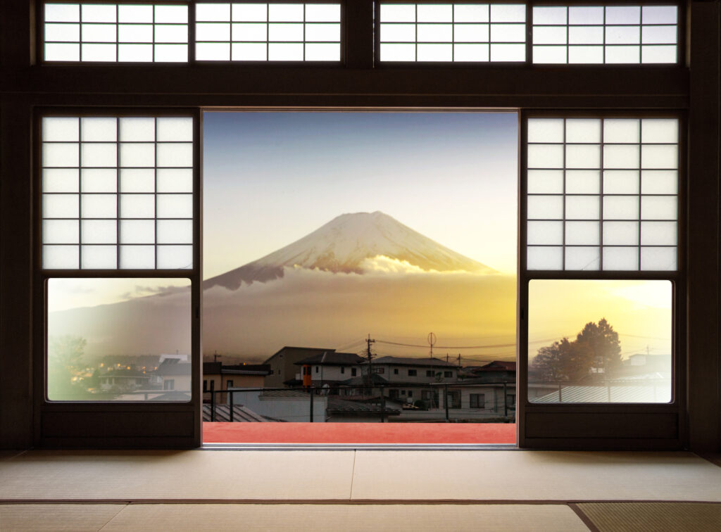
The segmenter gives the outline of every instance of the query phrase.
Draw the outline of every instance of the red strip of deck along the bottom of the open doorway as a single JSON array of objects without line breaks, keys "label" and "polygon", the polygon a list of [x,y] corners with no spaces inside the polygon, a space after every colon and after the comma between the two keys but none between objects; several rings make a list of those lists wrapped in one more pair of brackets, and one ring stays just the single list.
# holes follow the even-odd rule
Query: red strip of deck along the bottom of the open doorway
[{"label": "red strip of deck along the bottom of the open doorway", "polygon": [[516,443],[516,424],[204,422],[203,443]]}]

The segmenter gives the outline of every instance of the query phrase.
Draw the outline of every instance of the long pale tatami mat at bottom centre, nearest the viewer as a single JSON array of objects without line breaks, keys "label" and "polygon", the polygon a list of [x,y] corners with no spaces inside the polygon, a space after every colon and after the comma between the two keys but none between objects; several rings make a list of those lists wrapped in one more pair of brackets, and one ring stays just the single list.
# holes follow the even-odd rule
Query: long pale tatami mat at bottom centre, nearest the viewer
[{"label": "long pale tatami mat at bottom centre, nearest the viewer", "polygon": [[565,505],[130,505],[102,532],[588,532]]}]

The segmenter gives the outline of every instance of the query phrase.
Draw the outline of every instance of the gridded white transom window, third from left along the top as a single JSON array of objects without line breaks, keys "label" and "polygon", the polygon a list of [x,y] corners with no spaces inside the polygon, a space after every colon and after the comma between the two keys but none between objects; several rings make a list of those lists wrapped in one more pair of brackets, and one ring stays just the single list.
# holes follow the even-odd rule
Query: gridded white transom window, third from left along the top
[{"label": "gridded white transom window, third from left along the top", "polygon": [[526,60],[525,4],[380,2],[380,61]]}]

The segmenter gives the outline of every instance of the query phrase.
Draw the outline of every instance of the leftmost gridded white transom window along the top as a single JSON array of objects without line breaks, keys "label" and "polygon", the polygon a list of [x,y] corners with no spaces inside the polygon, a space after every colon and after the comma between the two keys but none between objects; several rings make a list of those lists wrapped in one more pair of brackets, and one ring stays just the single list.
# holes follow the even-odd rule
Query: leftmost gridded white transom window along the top
[{"label": "leftmost gridded white transom window along the top", "polygon": [[188,60],[188,6],[46,2],[45,61],[168,63]]}]

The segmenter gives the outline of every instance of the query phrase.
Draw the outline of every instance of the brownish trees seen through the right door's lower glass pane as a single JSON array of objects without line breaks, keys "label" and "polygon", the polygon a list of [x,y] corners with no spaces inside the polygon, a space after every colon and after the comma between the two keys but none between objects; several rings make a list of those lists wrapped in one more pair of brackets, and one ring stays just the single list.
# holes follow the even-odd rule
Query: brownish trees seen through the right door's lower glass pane
[{"label": "brownish trees seen through the right door's lower glass pane", "polygon": [[528,369],[533,380],[577,382],[613,376],[620,365],[619,334],[602,318],[585,324],[575,340],[541,347]]}]

